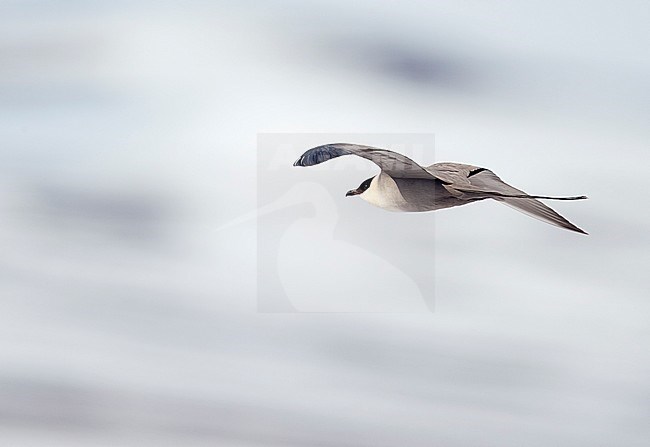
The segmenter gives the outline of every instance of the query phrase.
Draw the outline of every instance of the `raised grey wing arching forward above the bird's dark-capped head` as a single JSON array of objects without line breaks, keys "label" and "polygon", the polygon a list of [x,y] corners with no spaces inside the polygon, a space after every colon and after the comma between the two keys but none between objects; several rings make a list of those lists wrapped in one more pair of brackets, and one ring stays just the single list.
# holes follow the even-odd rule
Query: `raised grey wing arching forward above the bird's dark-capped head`
[{"label": "raised grey wing arching forward above the bird's dark-capped head", "polygon": [[314,147],[302,154],[294,166],[313,166],[343,155],[357,155],[368,159],[386,174],[395,178],[422,178],[435,180],[436,177],[405,155],[387,149],[378,149],[359,144],[334,143]]}]

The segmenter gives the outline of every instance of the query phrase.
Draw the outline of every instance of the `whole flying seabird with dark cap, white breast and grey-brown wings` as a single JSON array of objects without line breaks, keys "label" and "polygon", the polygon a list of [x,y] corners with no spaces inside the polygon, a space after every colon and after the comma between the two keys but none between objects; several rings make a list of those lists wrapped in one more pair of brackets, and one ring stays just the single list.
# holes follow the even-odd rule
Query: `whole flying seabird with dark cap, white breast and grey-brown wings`
[{"label": "whole flying seabird with dark cap, white breast and grey-brown wings", "polygon": [[552,225],[578,233],[573,225],[537,199],[579,200],[577,197],[533,196],[516,189],[486,168],[462,163],[435,163],[423,167],[386,149],[356,144],[328,144],[305,152],[294,166],[312,166],[342,155],[358,155],[377,164],[381,172],[346,195],[388,211],[423,212],[494,199]]}]

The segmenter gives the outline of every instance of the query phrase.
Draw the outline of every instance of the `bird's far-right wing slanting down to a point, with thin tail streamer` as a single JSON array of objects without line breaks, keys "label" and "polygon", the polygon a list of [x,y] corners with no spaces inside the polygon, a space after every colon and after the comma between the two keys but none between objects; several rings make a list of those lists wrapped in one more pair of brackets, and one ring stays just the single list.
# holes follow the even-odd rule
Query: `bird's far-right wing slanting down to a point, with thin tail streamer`
[{"label": "bird's far-right wing slanting down to a point, with thin tail streamer", "polygon": [[[488,169],[481,169],[479,172],[476,172],[474,175],[469,176],[468,181],[471,183],[472,186],[482,191],[493,191],[497,193],[492,197],[493,199],[503,203],[504,205],[508,205],[516,209],[517,211],[521,211],[522,213],[528,214],[531,217],[534,217],[536,219],[539,219],[551,225],[558,226],[560,228],[566,228],[567,230],[587,234],[586,231],[582,230],[581,228],[578,228],[577,226],[569,222],[567,219],[565,219],[564,217],[560,216],[558,213],[553,211],[551,208],[544,205],[539,200],[532,198],[532,196],[529,196],[530,198],[507,197],[507,196],[514,196],[514,195],[528,196],[528,194],[526,194],[525,192],[517,188],[508,185],[506,182],[501,180],[494,172]],[[539,196],[535,196],[535,197],[539,197]],[[549,198],[559,199],[559,200],[563,200],[563,199],[575,200],[575,199],[586,198],[586,197],[580,196],[580,197],[554,197],[554,198],[549,197]]]}]

